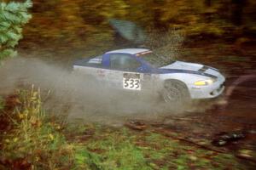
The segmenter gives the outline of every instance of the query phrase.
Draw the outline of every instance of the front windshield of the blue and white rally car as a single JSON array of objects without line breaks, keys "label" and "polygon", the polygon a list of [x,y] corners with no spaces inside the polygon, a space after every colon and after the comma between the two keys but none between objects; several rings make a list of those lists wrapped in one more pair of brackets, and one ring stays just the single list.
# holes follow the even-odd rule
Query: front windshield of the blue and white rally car
[{"label": "front windshield of the blue and white rally car", "polygon": [[171,59],[171,57],[166,57],[160,54],[156,54],[152,51],[144,52],[142,54],[137,54],[137,56],[142,57],[144,60],[148,62],[148,64],[152,65],[153,67],[161,67],[164,65],[170,65],[175,60]]}]

